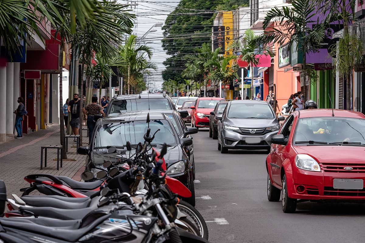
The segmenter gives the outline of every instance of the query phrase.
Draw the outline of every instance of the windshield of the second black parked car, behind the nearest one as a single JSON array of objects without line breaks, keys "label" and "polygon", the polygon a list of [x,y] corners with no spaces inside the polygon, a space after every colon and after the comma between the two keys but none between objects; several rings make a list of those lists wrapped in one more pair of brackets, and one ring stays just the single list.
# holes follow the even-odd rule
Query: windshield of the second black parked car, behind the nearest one
[{"label": "windshield of the second black parked car, behind the nearest one", "polygon": [[114,100],[111,103],[108,116],[116,116],[123,112],[143,111],[148,109],[170,110],[172,108],[165,98]]}]

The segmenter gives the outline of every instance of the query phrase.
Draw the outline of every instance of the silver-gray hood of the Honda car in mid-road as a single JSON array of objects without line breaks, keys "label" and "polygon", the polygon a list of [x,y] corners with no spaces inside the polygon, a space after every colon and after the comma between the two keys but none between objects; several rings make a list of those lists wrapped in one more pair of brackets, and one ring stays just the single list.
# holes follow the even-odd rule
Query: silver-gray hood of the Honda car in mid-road
[{"label": "silver-gray hood of the Honda car in mid-road", "polygon": [[224,124],[234,126],[234,127],[243,127],[243,128],[264,128],[264,127],[273,127],[277,126],[279,123],[275,118],[272,119],[242,119],[242,118],[226,118],[224,119]]}]

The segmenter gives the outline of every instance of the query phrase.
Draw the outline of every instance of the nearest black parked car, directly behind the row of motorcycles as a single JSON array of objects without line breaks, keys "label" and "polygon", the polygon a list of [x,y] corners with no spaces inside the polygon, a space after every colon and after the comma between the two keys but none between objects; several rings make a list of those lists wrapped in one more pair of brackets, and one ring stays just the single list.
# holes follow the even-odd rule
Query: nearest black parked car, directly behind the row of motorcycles
[{"label": "nearest black parked car, directly behind the row of motorcycles", "polygon": [[[195,205],[195,189],[193,180],[193,162],[189,159],[187,148],[192,145],[192,139],[181,137],[177,134],[172,120],[168,114],[150,112],[150,123],[146,122],[149,112],[122,113],[118,116],[105,117],[96,123],[90,147],[80,147],[79,154],[88,155],[85,170],[92,171],[94,175],[102,169],[106,160],[118,163],[122,159],[117,153],[107,154],[107,148],[114,146],[123,158],[129,158],[134,152],[128,151],[126,143],[129,141],[132,147],[143,143],[143,136],[148,126],[151,128],[151,136],[155,138],[151,145],[160,151],[164,143],[168,144],[166,162],[166,174],[183,183],[192,193],[190,198],[183,198],[186,202]],[[176,112],[176,115],[178,113]],[[196,133],[196,130],[186,131],[185,136]],[[152,152],[152,150],[151,150]]]}]

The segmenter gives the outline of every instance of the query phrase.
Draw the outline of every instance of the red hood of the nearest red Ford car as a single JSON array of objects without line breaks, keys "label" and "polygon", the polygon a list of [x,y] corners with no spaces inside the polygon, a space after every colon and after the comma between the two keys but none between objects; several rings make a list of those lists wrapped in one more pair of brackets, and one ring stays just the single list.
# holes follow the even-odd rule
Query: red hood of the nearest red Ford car
[{"label": "red hood of the nearest red Ford car", "polygon": [[298,154],[308,154],[319,162],[364,163],[365,147],[360,146],[295,146]]}]

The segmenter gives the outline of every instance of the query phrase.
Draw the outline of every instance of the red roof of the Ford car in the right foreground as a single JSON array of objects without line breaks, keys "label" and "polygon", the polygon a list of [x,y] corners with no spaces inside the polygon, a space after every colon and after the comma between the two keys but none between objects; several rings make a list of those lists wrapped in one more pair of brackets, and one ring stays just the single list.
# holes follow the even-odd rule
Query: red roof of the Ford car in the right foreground
[{"label": "red roof of the Ford car in the right foreground", "polygon": [[[307,109],[301,111],[295,111],[299,114],[299,118],[308,117],[332,117],[332,109]],[[360,118],[364,119],[365,115],[357,111],[347,111],[340,109],[333,109],[334,117],[349,117],[349,118]]]}]

